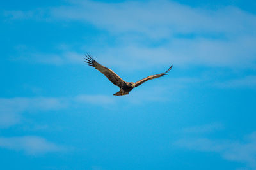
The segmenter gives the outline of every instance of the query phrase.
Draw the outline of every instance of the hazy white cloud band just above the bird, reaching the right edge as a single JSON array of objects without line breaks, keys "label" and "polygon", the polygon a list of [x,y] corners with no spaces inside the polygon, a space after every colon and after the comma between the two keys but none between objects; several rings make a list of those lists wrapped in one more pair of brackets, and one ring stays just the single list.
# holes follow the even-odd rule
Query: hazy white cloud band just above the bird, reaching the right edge
[{"label": "hazy white cloud band just above the bird, reaching the right edge", "polygon": [[[128,46],[106,48],[104,63],[122,69],[145,69],[156,65],[173,64],[178,67],[210,66],[244,69],[255,67],[256,50],[247,38],[232,41],[212,39],[174,39],[162,46],[148,47],[135,43]],[[243,44],[243,45],[241,45]],[[143,64],[141,64],[143,63]]]}]

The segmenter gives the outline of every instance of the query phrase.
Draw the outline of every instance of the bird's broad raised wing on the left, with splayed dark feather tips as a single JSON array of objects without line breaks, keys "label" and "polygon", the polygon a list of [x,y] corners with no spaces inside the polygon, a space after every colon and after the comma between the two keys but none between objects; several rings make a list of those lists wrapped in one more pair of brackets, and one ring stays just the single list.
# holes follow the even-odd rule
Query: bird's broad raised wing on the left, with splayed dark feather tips
[{"label": "bird's broad raised wing on the left, with splayed dark feather tips", "polygon": [[102,66],[101,64],[99,64],[97,61],[95,61],[91,55],[89,53],[87,53],[85,55],[87,58],[84,58],[89,64],[89,66],[93,66],[95,67],[95,69],[99,70],[102,74],[104,74],[108,80],[110,80],[114,85],[117,85],[118,87],[122,87],[124,85],[124,80],[122,80],[122,78],[120,78],[120,76],[118,76],[116,73],[114,73],[114,71],[112,71],[111,69],[108,69],[107,67]]}]

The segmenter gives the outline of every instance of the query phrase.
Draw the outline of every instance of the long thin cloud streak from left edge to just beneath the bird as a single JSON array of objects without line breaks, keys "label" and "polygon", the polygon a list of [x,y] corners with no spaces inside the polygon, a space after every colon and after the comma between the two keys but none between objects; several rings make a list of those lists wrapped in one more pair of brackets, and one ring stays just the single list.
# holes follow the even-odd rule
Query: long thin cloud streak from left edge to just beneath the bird
[{"label": "long thin cloud streak from left edge to just beneath the bird", "polygon": [[[116,92],[116,91],[115,91]],[[113,93],[115,93],[113,92]],[[22,122],[24,113],[37,111],[59,111],[72,107],[101,106],[104,108],[118,107],[120,103],[143,104],[145,102],[168,101],[163,94],[163,87],[150,87],[130,96],[108,96],[102,94],[79,94],[74,97],[14,97],[0,98],[0,127],[6,128]]]}]

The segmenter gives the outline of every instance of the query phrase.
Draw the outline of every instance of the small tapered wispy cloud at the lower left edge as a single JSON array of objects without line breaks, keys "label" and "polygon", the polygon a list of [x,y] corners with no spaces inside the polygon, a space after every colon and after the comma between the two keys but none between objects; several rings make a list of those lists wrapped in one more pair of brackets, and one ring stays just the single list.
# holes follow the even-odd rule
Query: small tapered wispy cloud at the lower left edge
[{"label": "small tapered wispy cloud at the lower left edge", "polygon": [[0,137],[0,147],[10,150],[21,150],[29,155],[60,152],[64,150],[63,146],[58,146],[39,136]]}]

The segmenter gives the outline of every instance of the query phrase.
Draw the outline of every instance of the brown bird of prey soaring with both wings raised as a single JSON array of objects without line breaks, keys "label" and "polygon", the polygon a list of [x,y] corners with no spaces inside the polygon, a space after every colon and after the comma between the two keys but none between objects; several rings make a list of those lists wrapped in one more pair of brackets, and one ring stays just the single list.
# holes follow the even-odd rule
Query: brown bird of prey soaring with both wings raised
[{"label": "brown bird of prey soaring with both wings raised", "polygon": [[122,95],[129,94],[129,92],[131,92],[131,90],[134,87],[138,87],[139,85],[141,85],[142,83],[145,83],[148,80],[165,76],[167,75],[168,71],[172,69],[172,66],[171,66],[164,73],[148,76],[146,78],[141,79],[140,81],[137,81],[136,83],[125,82],[124,80],[122,80],[122,78],[120,78],[120,76],[114,73],[114,71],[112,71],[111,69],[108,69],[107,67],[102,66],[97,61],[95,61],[89,53],[87,53],[85,56],[86,58],[84,58],[85,59],[84,62],[87,62],[89,66],[95,67],[95,69],[99,70],[102,74],[104,74],[104,76],[106,76],[108,80],[110,80],[114,85],[117,85],[120,88],[119,92],[113,94],[115,96],[122,96]]}]

